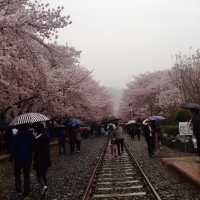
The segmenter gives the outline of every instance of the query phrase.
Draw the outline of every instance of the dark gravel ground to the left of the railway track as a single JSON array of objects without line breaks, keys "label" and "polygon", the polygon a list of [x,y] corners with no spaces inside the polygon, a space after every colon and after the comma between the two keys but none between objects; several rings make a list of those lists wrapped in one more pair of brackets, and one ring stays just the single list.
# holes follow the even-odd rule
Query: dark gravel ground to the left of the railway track
[{"label": "dark gravel ground to the left of the railway track", "polygon": [[[81,152],[58,156],[57,146],[52,147],[52,166],[48,172],[47,200],[79,200],[84,194],[92,170],[98,160],[104,144],[105,137],[89,138],[82,141]],[[67,145],[68,146],[68,145]],[[6,161],[0,164],[0,185],[4,184],[4,191],[0,191],[0,199],[16,199],[14,192],[14,179],[11,164]],[[2,173],[3,172],[3,173]],[[40,199],[40,187],[36,181],[35,173],[31,173],[32,192],[27,200]]]}]

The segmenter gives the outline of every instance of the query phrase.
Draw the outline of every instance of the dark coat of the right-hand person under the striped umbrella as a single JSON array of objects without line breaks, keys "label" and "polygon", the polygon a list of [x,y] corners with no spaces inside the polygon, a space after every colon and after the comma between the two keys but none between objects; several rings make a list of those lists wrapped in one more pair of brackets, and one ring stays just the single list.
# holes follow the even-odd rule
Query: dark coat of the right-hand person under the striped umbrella
[{"label": "dark coat of the right-hand person under the striped umbrella", "polygon": [[38,135],[34,141],[33,168],[46,170],[51,165],[49,136],[44,133]]}]

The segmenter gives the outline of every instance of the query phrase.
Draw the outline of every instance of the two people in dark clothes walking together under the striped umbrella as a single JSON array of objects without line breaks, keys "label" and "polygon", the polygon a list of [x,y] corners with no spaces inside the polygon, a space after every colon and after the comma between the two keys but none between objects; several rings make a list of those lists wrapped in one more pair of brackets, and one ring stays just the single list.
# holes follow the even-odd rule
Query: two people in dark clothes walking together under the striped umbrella
[{"label": "two people in dark clothes walking together under the striped umbrella", "polygon": [[[18,126],[10,144],[10,161],[14,163],[15,187],[17,193],[26,197],[30,193],[30,173],[36,172],[41,185],[41,195],[45,195],[47,186],[47,171],[51,165],[50,138],[43,124]],[[21,174],[23,173],[23,190]]]}]

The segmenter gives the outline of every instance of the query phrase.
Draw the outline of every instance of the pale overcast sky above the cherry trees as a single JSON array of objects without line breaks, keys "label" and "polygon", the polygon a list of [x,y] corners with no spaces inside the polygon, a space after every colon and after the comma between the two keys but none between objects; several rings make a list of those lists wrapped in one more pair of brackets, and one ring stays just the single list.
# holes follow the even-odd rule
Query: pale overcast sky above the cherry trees
[{"label": "pale overcast sky above the cherry trees", "polygon": [[43,1],[71,15],[58,41],[82,50],[81,64],[105,86],[124,88],[132,75],[169,68],[176,52],[200,48],[199,0]]}]

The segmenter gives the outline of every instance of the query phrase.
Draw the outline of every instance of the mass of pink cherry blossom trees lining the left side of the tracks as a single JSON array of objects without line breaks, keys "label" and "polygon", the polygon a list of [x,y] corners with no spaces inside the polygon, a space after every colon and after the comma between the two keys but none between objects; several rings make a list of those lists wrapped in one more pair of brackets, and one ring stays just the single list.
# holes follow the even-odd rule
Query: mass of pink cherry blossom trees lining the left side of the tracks
[{"label": "mass of pink cherry blossom trees lining the left side of the tracks", "polygon": [[112,114],[106,89],[80,66],[81,52],[51,42],[71,24],[62,10],[39,1],[0,0],[1,118],[24,112],[90,119]]}]

